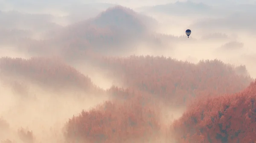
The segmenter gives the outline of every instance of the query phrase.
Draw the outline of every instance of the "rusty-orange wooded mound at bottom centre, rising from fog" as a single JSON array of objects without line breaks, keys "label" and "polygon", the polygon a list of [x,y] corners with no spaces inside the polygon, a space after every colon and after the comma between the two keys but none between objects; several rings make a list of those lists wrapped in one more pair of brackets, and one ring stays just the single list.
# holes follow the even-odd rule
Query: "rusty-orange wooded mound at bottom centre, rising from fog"
[{"label": "rusty-orange wooded mound at bottom centre, rising from fog", "polygon": [[147,142],[160,130],[158,113],[143,104],[141,95],[127,101],[106,101],[73,116],[65,126],[68,143]]}]

